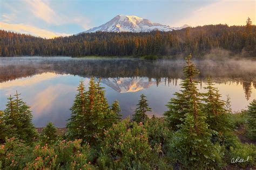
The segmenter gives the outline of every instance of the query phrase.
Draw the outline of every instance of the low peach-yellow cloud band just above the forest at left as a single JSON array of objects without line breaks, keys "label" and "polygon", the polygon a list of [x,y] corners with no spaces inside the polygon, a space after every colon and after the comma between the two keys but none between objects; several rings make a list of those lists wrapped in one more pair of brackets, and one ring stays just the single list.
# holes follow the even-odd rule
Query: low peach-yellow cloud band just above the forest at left
[{"label": "low peach-yellow cloud band just above the forest at left", "polygon": [[0,22],[0,29],[10,30],[10,31],[19,32],[19,33],[32,34],[33,36],[39,36],[43,38],[54,38],[54,37],[71,35],[66,33],[52,32],[49,30],[40,29],[38,27],[26,25],[26,24],[9,24],[4,22]]}]

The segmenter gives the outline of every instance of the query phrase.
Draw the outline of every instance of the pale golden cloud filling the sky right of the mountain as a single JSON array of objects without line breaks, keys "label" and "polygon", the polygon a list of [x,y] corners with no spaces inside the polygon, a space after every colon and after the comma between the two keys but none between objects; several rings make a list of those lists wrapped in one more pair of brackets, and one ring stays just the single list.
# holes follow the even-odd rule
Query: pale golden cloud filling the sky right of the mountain
[{"label": "pale golden cloud filling the sky right of the mountain", "polygon": [[255,24],[255,1],[218,1],[206,5],[180,19],[173,25],[191,26],[208,24],[245,25],[247,17]]}]

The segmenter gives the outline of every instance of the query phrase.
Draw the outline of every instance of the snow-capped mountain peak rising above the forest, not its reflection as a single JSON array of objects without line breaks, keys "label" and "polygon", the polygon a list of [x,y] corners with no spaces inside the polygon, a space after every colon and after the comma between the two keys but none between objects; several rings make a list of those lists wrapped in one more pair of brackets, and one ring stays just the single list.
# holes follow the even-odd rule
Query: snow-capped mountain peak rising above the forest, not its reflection
[{"label": "snow-capped mountain peak rising above the forest, not its reflection", "polygon": [[158,23],[152,23],[149,19],[140,18],[137,16],[118,15],[109,22],[93,27],[87,32],[106,31],[106,32],[150,32],[150,31],[172,31],[188,27],[184,25],[181,27],[170,27]]}]

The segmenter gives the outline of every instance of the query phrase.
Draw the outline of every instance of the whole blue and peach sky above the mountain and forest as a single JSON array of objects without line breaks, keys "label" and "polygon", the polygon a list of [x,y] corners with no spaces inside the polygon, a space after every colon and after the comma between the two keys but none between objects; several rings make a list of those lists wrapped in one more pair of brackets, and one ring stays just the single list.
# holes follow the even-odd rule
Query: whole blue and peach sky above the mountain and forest
[{"label": "whole blue and peach sky above the mountain and forest", "polygon": [[69,36],[120,14],[169,26],[245,25],[247,17],[256,22],[256,1],[0,0],[0,30],[43,38]]}]

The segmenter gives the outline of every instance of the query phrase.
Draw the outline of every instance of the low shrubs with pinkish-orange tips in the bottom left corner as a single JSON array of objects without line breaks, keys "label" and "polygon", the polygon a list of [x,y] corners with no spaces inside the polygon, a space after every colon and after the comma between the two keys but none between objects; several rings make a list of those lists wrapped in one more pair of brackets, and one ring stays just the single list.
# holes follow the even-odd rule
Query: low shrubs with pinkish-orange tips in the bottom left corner
[{"label": "low shrubs with pinkish-orange tips in the bottom left corner", "polygon": [[94,169],[90,163],[90,146],[82,140],[58,141],[55,145],[26,146],[23,141],[9,139],[0,147],[3,169]]}]

